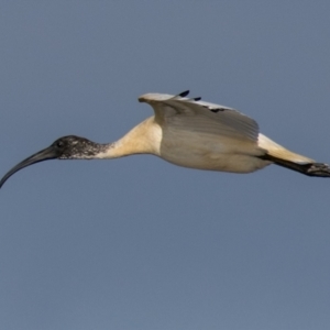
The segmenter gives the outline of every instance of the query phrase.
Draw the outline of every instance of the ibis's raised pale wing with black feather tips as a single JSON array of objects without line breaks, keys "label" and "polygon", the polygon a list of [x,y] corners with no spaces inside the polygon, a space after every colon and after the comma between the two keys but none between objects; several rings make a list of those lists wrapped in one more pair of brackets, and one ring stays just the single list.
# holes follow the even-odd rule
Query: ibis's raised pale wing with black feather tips
[{"label": "ibis's raised pale wing with black feather tips", "polygon": [[257,141],[258,125],[253,119],[234,109],[200,101],[200,98],[186,98],[188,92],[146,94],[139,101],[150,103],[156,117],[180,129]]}]

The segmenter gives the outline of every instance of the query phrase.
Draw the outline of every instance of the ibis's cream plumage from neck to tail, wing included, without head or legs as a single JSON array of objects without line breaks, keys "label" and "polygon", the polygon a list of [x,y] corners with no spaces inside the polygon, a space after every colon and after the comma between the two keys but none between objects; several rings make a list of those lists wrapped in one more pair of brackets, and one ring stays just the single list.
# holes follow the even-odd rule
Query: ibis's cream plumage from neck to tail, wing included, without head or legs
[{"label": "ibis's cream plumage from neck to tail, wing included, without head or legs", "polygon": [[143,153],[178,166],[232,173],[270,165],[271,161],[260,158],[270,151],[304,164],[314,162],[258,133],[254,120],[233,109],[170,95],[148,94],[139,100],[150,103],[155,116],[111,144],[99,158]]}]

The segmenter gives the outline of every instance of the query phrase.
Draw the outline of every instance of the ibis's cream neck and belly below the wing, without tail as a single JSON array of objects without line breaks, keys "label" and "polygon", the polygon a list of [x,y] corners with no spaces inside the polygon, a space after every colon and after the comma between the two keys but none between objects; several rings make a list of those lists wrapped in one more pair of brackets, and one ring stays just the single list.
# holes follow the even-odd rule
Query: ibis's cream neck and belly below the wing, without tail
[{"label": "ibis's cream neck and belly below the wing, without tail", "polygon": [[264,154],[256,143],[196,132],[191,125],[185,128],[184,122],[174,125],[147,118],[97,157],[153,154],[178,166],[234,173],[250,173],[271,164],[255,157]]}]

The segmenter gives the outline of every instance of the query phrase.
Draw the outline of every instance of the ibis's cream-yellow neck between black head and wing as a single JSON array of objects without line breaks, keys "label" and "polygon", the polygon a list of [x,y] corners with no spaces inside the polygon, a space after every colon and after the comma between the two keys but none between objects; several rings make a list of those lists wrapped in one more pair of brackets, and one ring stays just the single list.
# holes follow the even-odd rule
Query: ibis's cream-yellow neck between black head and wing
[{"label": "ibis's cream-yellow neck between black head and wing", "polygon": [[120,140],[109,143],[108,147],[100,154],[98,158],[119,158],[133,154],[154,154],[160,155],[162,140],[162,129],[148,118]]}]

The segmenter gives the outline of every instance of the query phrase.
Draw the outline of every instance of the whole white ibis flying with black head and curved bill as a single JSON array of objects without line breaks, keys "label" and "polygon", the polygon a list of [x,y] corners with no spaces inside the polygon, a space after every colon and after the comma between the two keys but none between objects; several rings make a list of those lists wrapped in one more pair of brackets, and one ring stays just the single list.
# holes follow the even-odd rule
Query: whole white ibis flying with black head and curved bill
[{"label": "whole white ibis flying with black head and curved bill", "polygon": [[205,102],[200,97],[145,94],[140,102],[154,116],[112,143],[67,135],[25,158],[0,180],[46,160],[111,160],[133,154],[156,155],[172,164],[229,173],[252,173],[271,164],[307,176],[330,177],[330,166],[294,153],[260,133],[255,120],[235,109]]}]

